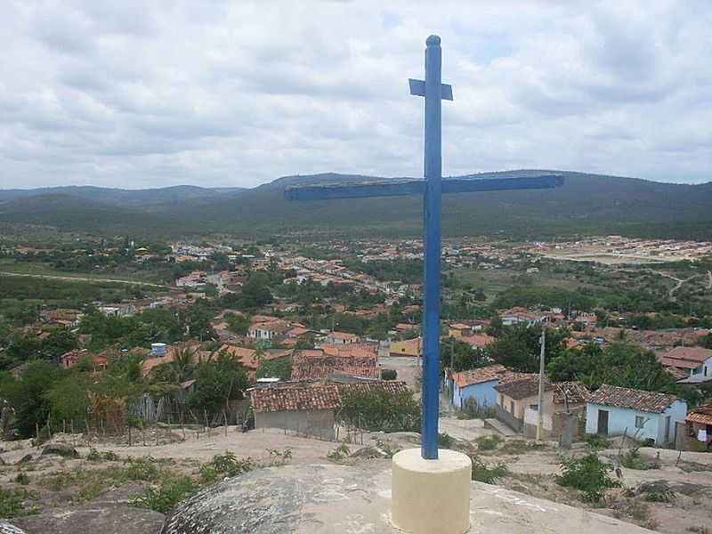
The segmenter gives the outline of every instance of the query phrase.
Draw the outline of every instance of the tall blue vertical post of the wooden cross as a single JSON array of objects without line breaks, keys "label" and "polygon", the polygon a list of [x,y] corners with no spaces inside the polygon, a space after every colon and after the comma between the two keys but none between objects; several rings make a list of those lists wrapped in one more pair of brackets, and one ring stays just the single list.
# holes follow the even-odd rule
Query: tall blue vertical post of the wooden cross
[{"label": "tall blue vertical post of the wooden cross", "polygon": [[423,415],[421,454],[438,457],[441,315],[441,47],[439,36],[425,41],[425,198],[423,228]]}]

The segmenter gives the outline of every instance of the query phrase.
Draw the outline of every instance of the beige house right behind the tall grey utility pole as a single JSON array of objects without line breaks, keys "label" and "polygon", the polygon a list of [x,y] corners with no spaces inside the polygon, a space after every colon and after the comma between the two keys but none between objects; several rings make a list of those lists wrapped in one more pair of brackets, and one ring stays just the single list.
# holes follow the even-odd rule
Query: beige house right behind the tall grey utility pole
[{"label": "beige house right behind the tall grey utility pole", "polygon": [[[533,436],[538,425],[539,376],[527,374],[494,387],[498,392],[495,406],[497,418],[517,432]],[[554,384],[544,379],[543,427],[547,433],[554,428]]]}]

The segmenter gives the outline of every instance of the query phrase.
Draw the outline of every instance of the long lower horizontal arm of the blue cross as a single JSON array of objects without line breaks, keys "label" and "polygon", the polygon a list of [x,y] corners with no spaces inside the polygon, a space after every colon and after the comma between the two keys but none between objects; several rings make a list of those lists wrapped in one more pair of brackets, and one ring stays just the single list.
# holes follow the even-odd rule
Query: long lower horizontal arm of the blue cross
[{"label": "long lower horizontal arm of the blue cross", "polygon": [[[404,197],[424,195],[425,180],[390,182],[335,183],[292,186],[285,190],[287,200],[330,200],[336,198]],[[563,185],[563,176],[542,174],[520,178],[450,178],[442,181],[442,192],[551,189]]]}]

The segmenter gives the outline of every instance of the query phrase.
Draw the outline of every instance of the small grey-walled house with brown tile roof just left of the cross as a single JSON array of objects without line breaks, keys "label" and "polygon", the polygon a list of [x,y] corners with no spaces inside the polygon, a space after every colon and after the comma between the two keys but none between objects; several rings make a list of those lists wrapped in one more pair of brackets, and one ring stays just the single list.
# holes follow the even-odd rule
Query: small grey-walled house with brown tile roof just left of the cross
[{"label": "small grey-walled house with brown tile roof just left of the cross", "polygon": [[336,385],[256,387],[250,390],[255,429],[287,432],[333,441],[336,410],[341,408]]}]

